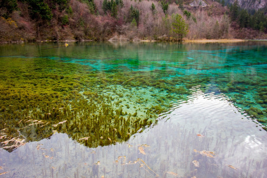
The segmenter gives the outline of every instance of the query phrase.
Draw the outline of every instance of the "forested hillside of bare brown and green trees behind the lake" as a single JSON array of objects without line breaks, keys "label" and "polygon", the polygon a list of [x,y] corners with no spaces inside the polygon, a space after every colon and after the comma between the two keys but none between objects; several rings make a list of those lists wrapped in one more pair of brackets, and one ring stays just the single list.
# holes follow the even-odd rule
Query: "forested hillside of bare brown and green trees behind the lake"
[{"label": "forested hillside of bare brown and green trees behind the lake", "polygon": [[[219,0],[220,1],[220,0]],[[265,9],[221,0],[0,0],[0,41],[266,39]]]}]

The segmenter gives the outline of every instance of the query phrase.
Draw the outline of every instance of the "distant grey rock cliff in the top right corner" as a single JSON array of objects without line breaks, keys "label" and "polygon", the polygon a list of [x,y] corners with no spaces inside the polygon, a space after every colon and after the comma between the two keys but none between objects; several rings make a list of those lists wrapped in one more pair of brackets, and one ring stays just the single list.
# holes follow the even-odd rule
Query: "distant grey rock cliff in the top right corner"
[{"label": "distant grey rock cliff in the top right corner", "polygon": [[237,1],[238,5],[244,9],[255,9],[264,8],[267,6],[267,0],[229,0],[229,3]]}]

